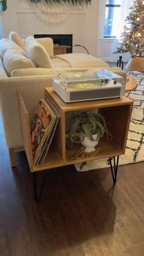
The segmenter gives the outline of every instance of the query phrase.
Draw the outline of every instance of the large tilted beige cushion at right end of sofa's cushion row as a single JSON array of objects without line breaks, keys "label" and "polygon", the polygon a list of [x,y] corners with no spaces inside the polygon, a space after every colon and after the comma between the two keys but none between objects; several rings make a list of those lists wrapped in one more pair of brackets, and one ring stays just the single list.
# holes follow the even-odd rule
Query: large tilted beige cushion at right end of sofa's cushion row
[{"label": "large tilted beige cushion at right end of sofa's cushion row", "polygon": [[26,38],[26,49],[29,58],[38,68],[52,68],[51,59],[46,49],[38,43],[34,37]]}]

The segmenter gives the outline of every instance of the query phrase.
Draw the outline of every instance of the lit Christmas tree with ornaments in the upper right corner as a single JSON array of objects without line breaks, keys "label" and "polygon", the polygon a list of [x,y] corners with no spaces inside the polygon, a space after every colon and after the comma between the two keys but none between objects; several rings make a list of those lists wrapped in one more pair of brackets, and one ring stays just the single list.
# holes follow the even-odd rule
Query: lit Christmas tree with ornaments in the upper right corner
[{"label": "lit Christmas tree with ornaments in the upper right corner", "polygon": [[144,1],[134,1],[130,10],[126,17],[128,26],[124,26],[117,53],[129,52],[132,57],[141,57],[144,52]]}]

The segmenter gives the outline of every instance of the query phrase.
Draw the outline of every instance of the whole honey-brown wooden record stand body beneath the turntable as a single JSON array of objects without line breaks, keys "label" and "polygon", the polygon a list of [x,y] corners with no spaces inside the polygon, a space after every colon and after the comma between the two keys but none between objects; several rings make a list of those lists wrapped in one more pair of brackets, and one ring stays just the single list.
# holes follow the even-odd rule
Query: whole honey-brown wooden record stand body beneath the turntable
[{"label": "whole honey-brown wooden record stand body beneath the turntable", "polygon": [[[21,131],[31,172],[124,154],[128,137],[129,122],[131,120],[132,100],[126,97],[121,97],[110,98],[107,100],[64,103],[57,93],[54,92],[52,87],[45,89],[45,97],[48,98],[54,108],[56,108],[57,112],[59,112],[60,120],[45,162],[40,165],[34,165],[32,159],[29,113],[21,93],[18,92]],[[71,159],[81,145],[75,144],[71,150],[66,148],[65,134],[67,130],[67,113],[73,111],[87,111],[88,109],[98,109],[98,112],[104,116],[109,133],[112,134],[112,139],[110,139],[110,137],[108,141],[107,137],[100,139],[98,143],[100,150],[95,156]]]}]

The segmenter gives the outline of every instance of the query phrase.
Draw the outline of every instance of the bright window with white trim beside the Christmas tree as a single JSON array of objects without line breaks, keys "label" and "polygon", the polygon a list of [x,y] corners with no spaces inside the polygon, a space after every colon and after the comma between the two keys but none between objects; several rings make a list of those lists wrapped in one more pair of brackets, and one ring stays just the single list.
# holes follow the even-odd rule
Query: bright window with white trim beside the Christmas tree
[{"label": "bright window with white trim beside the Christmas tree", "polygon": [[104,38],[116,38],[120,26],[122,0],[106,0]]}]

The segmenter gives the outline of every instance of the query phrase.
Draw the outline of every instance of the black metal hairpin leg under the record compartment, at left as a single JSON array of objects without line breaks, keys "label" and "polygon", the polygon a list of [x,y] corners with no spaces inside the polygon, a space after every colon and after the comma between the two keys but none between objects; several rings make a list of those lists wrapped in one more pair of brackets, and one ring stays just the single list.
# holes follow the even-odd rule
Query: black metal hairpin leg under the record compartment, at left
[{"label": "black metal hairpin leg under the record compartment, at left", "polygon": [[41,183],[39,195],[38,195],[38,189],[37,189],[37,172],[32,173],[32,178],[33,178],[33,188],[34,188],[34,199],[37,203],[39,203],[40,199],[41,199],[41,194],[43,192],[43,187],[45,185],[46,172],[43,175],[43,180],[42,180],[42,183]]}]

